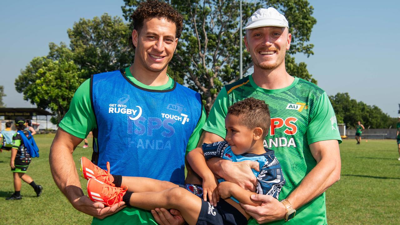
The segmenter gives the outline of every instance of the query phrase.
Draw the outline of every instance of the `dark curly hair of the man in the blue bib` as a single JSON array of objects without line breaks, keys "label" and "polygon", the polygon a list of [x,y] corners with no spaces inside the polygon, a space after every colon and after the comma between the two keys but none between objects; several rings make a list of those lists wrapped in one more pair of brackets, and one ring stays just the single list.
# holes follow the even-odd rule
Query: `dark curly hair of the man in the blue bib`
[{"label": "dark curly hair of the man in the blue bib", "polygon": [[180,33],[183,30],[182,15],[166,2],[160,2],[158,0],[140,2],[140,6],[133,12],[130,18],[133,20],[133,28],[138,32],[142,29],[144,20],[148,18],[166,18],[175,23],[176,38],[180,38]]}]

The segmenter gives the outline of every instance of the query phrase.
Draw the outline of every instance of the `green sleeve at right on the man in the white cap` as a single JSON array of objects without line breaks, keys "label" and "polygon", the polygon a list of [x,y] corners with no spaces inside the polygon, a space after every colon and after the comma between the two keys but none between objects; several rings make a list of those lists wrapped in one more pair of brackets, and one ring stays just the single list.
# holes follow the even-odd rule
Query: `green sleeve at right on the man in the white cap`
[{"label": "green sleeve at right on the man in the white cap", "polygon": [[315,104],[311,122],[307,127],[307,140],[308,145],[326,140],[338,140],[339,143],[342,143],[335,112],[326,92]]}]

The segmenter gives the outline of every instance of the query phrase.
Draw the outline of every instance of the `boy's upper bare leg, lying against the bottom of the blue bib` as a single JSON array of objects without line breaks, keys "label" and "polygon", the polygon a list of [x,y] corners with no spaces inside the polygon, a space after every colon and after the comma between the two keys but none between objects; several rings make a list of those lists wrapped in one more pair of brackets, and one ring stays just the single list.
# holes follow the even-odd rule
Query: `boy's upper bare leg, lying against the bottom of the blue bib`
[{"label": "boy's upper bare leg, lying against the bottom of the blue bib", "polygon": [[[148,191],[164,191],[178,185],[169,181],[160,181],[147,177],[122,177],[121,187],[128,186],[128,191],[148,192]],[[154,209],[154,208],[153,208]]]}]

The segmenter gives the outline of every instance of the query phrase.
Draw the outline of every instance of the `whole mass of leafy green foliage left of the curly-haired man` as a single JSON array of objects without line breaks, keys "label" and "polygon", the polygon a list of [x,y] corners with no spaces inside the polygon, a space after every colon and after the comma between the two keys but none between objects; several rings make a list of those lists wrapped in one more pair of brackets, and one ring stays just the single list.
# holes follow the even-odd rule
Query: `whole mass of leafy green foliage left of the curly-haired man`
[{"label": "whole mass of leafy green foliage left of the curly-haired man", "polygon": [[68,29],[70,46],[50,43],[47,56],[35,57],[15,80],[16,90],[40,108],[55,113],[59,123],[68,111],[75,90],[91,74],[129,66],[133,51],[130,28],[108,14],[80,19]]}]

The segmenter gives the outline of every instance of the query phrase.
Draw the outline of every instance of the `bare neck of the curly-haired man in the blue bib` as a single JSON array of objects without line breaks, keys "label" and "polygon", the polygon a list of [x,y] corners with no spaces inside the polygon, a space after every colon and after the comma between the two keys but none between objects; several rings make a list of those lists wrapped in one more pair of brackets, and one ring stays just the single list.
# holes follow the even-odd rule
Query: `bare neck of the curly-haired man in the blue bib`
[{"label": "bare neck of the curly-haired man in the blue bib", "polygon": [[160,72],[152,72],[133,63],[129,67],[129,70],[136,80],[148,86],[161,86],[166,84],[169,80],[169,77],[167,76],[167,67]]}]

